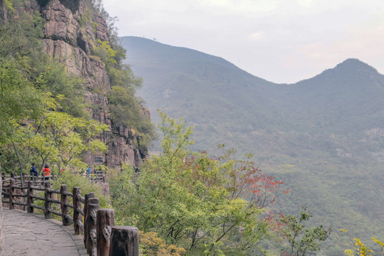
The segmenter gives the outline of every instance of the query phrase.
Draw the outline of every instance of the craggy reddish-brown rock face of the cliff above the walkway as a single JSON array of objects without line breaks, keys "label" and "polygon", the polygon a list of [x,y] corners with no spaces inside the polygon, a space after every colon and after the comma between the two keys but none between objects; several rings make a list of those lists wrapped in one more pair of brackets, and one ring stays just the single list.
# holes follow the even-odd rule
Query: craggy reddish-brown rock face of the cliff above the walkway
[{"label": "craggy reddish-brown rock face of the cliff above the walkway", "polygon": [[[2,0],[0,0],[2,1]],[[101,134],[108,145],[107,154],[87,154],[91,165],[105,163],[117,167],[121,163],[138,166],[146,151],[139,151],[137,137],[129,127],[114,127],[110,119],[107,92],[111,90],[110,78],[104,63],[92,57],[92,42],[109,41],[107,24],[101,16],[89,11],[90,0],[31,0],[25,1],[26,11],[39,11],[46,21],[44,43],[46,52],[65,63],[68,72],[80,75],[85,81],[85,101],[93,119],[105,123],[110,132]]]}]

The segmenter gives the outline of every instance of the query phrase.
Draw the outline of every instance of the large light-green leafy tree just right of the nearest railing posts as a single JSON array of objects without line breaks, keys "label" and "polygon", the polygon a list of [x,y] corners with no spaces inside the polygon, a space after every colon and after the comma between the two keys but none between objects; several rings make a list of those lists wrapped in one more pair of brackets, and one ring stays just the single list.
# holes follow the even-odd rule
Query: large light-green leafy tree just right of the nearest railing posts
[{"label": "large light-green leafy tree just right of the nearest railing posts", "polygon": [[117,219],[154,231],[189,254],[248,255],[270,235],[266,209],[251,191],[262,184],[260,170],[250,159],[230,159],[234,151],[220,159],[191,152],[191,127],[160,114],[161,154],[139,173],[126,169],[111,181]]}]

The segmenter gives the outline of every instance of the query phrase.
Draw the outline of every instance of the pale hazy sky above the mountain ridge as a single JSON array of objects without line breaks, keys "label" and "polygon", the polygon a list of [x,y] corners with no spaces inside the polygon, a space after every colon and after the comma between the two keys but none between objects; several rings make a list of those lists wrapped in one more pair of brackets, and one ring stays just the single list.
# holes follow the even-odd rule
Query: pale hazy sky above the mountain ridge
[{"label": "pale hazy sky above the mountain ridge", "polygon": [[271,82],[358,58],[384,73],[383,0],[103,0],[119,36],[216,55]]}]

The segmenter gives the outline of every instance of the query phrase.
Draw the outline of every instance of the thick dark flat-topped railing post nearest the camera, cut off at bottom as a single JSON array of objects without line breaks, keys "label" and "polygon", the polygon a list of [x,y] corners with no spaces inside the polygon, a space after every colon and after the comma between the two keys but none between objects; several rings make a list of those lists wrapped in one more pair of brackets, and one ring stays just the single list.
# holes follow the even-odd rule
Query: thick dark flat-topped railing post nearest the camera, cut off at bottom
[{"label": "thick dark flat-topped railing post nearest the camera, cut off at bottom", "polygon": [[139,256],[139,230],[136,227],[112,227],[110,256]]}]

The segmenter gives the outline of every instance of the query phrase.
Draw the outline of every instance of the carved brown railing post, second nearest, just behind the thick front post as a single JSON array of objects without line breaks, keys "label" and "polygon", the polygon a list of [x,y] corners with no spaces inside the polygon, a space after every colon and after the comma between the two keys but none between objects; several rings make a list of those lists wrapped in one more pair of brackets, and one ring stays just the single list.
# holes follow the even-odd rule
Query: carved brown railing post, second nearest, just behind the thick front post
[{"label": "carved brown railing post, second nearest, just behind the thick front post", "polygon": [[110,256],[111,231],[114,226],[114,210],[97,210],[97,256]]}]

